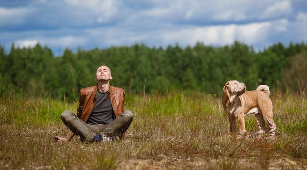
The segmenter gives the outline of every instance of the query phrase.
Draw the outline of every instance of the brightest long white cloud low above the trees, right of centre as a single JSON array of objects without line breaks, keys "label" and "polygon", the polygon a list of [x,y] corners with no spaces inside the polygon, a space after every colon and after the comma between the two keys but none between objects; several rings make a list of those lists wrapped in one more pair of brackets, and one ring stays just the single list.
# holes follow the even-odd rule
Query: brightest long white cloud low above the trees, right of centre
[{"label": "brightest long white cloud low above the trees, right of centre", "polygon": [[196,42],[205,44],[226,45],[235,40],[248,44],[266,40],[271,27],[269,22],[252,23],[246,25],[225,25],[182,28],[176,31],[167,31],[162,35],[164,44],[184,42],[182,45],[194,45]]}]

